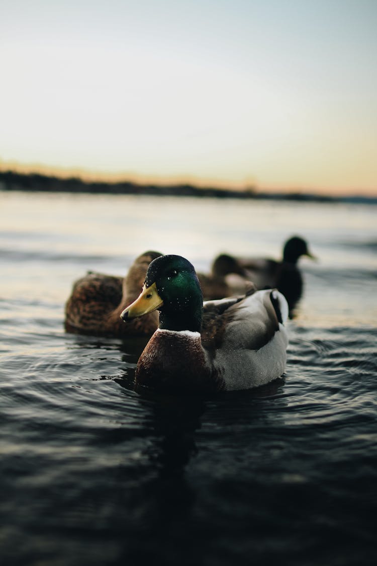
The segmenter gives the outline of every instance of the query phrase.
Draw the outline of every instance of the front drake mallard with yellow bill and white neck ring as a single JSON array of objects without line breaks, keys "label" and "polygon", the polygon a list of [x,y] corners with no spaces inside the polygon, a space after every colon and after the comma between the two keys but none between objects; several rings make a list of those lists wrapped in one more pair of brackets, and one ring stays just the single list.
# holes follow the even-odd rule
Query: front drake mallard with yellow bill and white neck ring
[{"label": "front drake mallard with yellow bill and white neck ring", "polygon": [[137,386],[207,393],[249,389],[283,374],[288,306],[279,291],[203,304],[193,265],[164,255],[151,262],[140,296],[120,316],[128,324],[156,309],[159,325],[138,359]]}]

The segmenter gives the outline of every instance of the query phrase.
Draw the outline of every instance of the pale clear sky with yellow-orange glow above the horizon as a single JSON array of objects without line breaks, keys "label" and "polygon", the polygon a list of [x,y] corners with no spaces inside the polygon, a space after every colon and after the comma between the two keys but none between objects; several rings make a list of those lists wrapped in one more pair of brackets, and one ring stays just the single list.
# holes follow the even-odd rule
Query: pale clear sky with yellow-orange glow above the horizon
[{"label": "pale clear sky with yellow-orange glow above the horizon", "polygon": [[377,196],[376,0],[0,0],[0,167]]}]

